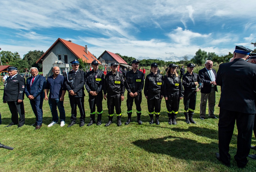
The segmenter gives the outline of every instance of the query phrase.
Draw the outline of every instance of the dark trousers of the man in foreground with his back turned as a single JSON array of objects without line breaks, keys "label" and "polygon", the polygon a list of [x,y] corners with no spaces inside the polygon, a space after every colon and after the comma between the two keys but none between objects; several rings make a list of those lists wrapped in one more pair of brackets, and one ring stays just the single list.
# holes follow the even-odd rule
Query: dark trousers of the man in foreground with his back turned
[{"label": "dark trousers of the man in foreground with his back turned", "polygon": [[237,153],[234,156],[238,166],[245,166],[251,149],[254,114],[219,109],[219,157],[230,165],[229,144],[237,121]]}]

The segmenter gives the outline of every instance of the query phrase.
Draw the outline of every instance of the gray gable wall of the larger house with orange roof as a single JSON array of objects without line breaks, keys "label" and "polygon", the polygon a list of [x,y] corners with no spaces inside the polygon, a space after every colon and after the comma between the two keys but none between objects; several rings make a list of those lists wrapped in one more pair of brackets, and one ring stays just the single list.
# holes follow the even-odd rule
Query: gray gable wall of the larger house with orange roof
[{"label": "gray gable wall of the larger house with orange roof", "polygon": [[[61,55],[61,60],[58,60],[57,55]],[[64,55],[68,55],[68,64],[54,64],[55,61],[64,63]],[[47,53],[43,60],[43,76],[49,77],[49,75],[51,75],[52,67],[54,66],[60,67],[60,74],[62,74],[63,69],[68,72],[69,66],[71,66],[71,63],[69,62],[75,59],[78,60],[78,58],[62,42],[58,42],[51,51]]]}]

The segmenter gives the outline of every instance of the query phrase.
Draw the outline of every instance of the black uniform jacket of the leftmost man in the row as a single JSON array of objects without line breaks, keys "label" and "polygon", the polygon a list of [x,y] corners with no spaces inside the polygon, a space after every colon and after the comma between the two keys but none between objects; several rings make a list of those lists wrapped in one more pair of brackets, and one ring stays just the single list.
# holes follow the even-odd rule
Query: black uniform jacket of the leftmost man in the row
[{"label": "black uniform jacket of the leftmost man in the row", "polygon": [[12,79],[10,76],[4,82],[3,101],[11,102],[24,99],[25,78],[15,75]]}]

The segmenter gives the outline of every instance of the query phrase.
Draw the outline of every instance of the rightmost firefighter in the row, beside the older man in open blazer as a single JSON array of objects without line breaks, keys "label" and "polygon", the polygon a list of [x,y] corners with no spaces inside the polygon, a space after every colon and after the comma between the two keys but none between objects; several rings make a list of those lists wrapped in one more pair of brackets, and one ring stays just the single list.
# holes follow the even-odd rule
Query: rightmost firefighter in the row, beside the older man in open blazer
[{"label": "rightmost firefighter in the row, beside the older man in open blazer", "polygon": [[203,87],[202,80],[197,73],[194,73],[193,63],[187,65],[187,73],[182,77],[182,85],[184,87],[184,115],[187,124],[196,124],[193,120],[193,114],[196,108],[196,93]]}]

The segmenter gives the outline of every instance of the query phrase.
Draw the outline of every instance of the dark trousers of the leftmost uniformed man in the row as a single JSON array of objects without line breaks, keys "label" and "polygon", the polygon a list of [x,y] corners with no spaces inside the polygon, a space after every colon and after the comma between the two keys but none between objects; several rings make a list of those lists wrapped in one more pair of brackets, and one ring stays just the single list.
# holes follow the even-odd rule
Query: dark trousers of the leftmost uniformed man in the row
[{"label": "dark trousers of the leftmost uniformed man in the row", "polygon": [[[24,125],[25,123],[25,110],[24,110],[24,104],[23,101],[21,103],[18,103],[17,101],[11,101],[7,102],[10,112],[12,114],[10,123],[11,125]],[[19,114],[19,116],[18,116]]]}]

